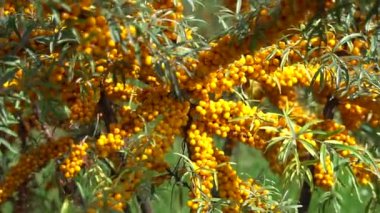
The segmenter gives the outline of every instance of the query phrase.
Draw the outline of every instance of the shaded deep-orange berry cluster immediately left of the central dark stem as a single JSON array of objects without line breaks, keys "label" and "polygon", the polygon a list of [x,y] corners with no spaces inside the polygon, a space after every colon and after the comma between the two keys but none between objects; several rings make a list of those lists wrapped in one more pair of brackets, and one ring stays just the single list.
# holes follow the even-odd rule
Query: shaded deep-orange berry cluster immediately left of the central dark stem
[{"label": "shaded deep-orange berry cluster immediately left of the central dark stem", "polygon": [[150,169],[162,171],[166,168],[164,157],[175,136],[180,135],[187,124],[190,104],[160,90],[149,91],[138,99],[140,107],[125,112],[121,125],[129,136],[143,135],[139,143],[131,141],[129,145],[135,160],[143,161]]}]

